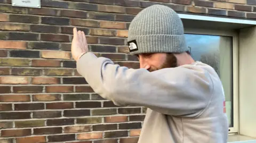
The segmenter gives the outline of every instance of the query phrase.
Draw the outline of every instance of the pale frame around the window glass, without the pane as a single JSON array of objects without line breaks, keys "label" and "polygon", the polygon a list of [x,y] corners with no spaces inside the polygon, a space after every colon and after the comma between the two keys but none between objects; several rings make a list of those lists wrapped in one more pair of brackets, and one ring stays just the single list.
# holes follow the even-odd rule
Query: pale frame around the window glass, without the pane
[{"label": "pale frame around the window glass, without the pane", "polygon": [[238,33],[233,30],[210,30],[210,29],[190,29],[185,28],[185,33],[199,35],[215,35],[233,37],[233,127],[229,128],[229,133],[238,133]]}]

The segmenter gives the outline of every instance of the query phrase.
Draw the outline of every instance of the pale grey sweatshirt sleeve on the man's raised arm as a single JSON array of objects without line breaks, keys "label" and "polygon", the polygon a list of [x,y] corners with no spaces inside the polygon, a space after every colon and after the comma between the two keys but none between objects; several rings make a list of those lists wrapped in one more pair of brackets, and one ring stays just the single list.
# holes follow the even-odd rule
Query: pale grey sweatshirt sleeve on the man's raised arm
[{"label": "pale grey sweatshirt sleeve on the man's raised arm", "polygon": [[168,115],[199,114],[209,104],[212,81],[195,65],[161,69],[128,69],[109,58],[84,54],[77,71],[92,89],[118,106],[145,106]]}]

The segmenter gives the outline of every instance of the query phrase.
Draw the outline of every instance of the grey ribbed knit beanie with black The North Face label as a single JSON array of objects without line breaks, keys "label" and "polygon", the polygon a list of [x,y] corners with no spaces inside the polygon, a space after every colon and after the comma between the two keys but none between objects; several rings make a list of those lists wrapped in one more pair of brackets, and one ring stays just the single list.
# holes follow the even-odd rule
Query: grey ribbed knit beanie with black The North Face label
[{"label": "grey ribbed knit beanie with black The North Face label", "polygon": [[135,16],[127,41],[132,55],[188,51],[179,15],[170,7],[158,4],[143,9]]}]

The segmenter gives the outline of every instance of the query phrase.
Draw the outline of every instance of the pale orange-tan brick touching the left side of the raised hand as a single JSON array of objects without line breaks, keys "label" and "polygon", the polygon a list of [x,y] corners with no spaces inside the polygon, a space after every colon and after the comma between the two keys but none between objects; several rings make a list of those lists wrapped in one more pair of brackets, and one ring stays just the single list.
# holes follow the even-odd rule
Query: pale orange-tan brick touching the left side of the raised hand
[{"label": "pale orange-tan brick touching the left side of the raised hand", "polygon": [[70,59],[70,52],[67,51],[41,51],[43,58]]}]

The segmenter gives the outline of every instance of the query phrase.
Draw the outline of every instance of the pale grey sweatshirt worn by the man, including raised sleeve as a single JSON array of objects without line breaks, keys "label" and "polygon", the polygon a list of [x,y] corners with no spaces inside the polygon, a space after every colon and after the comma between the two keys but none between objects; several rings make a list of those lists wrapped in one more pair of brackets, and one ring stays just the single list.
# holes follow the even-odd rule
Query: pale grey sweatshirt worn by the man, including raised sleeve
[{"label": "pale grey sweatshirt worn by the man, including raised sleeve", "polygon": [[149,72],[93,53],[77,61],[93,90],[116,105],[148,108],[139,143],[225,143],[228,120],[218,74],[201,62]]}]

